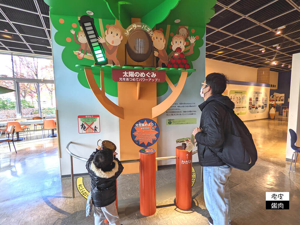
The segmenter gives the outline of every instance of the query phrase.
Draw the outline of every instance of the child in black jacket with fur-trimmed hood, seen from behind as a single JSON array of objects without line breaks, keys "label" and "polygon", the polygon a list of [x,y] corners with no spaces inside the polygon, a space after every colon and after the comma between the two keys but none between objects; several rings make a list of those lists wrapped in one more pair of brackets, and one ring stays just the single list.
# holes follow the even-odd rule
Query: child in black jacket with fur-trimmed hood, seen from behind
[{"label": "child in black jacket with fur-trimmed hood, seen from behind", "polygon": [[116,179],[123,171],[121,162],[114,158],[111,149],[98,146],[85,166],[91,178],[95,225],[104,225],[105,218],[110,225],[120,225],[116,209]]}]

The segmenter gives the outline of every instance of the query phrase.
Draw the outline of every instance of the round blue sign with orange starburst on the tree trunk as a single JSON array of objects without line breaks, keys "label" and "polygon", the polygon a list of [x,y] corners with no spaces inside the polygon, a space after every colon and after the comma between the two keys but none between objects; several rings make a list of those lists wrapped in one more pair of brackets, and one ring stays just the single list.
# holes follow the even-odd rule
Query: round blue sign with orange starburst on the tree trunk
[{"label": "round blue sign with orange starburst on the tree trunk", "polygon": [[131,129],[131,138],[140,147],[147,148],[154,145],[159,138],[159,127],[152,119],[140,119]]}]

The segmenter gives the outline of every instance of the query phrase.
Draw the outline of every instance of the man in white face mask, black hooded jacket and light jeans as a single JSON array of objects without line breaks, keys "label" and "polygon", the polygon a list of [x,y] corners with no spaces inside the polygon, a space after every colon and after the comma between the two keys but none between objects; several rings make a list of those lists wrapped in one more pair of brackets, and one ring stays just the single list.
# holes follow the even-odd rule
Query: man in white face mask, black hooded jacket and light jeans
[{"label": "man in white face mask, black hooded jacket and light jeans", "polygon": [[222,95],[228,82],[224,74],[210,73],[205,81],[201,83],[200,91],[204,98],[204,102],[199,105],[202,111],[200,126],[193,131],[198,145],[199,163],[203,167],[204,200],[211,216],[208,217],[209,224],[230,225],[231,167],[223,163],[219,156],[231,126],[226,109],[234,109],[234,103]]}]

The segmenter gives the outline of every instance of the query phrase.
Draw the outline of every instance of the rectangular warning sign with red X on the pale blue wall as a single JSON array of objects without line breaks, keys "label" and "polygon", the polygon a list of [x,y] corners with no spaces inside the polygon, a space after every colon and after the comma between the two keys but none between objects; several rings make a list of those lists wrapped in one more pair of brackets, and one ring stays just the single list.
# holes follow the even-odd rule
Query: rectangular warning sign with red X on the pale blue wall
[{"label": "rectangular warning sign with red X on the pale blue wall", "polygon": [[81,115],[78,116],[79,134],[100,133],[99,115]]}]

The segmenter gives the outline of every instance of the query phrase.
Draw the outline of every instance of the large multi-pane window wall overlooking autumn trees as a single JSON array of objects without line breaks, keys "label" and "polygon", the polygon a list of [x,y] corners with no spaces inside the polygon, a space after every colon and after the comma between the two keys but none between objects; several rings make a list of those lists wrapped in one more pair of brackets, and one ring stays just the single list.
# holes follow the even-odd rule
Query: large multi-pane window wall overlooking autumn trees
[{"label": "large multi-pane window wall overlooking autumn trees", "polygon": [[0,54],[0,86],[16,90],[0,95],[0,119],[55,116],[53,61]]}]

